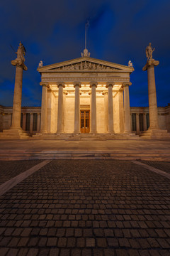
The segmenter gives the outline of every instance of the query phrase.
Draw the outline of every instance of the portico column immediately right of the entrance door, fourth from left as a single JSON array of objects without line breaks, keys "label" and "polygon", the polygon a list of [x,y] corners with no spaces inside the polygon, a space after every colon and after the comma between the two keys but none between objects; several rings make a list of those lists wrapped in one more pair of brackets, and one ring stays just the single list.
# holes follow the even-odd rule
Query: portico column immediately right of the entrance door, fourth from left
[{"label": "portico column immediately right of the entrance door, fourth from left", "polygon": [[97,82],[91,82],[91,133],[96,134],[96,87]]}]

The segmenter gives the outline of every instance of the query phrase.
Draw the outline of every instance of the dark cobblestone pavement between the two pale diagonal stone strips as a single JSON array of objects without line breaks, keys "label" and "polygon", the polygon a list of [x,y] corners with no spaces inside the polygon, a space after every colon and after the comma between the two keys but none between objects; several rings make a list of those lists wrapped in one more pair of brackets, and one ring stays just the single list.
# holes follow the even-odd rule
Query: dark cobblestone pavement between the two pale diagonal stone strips
[{"label": "dark cobblestone pavement between the two pale diagonal stone strips", "polygon": [[130,161],[52,161],[0,197],[0,255],[170,255],[169,185]]}]

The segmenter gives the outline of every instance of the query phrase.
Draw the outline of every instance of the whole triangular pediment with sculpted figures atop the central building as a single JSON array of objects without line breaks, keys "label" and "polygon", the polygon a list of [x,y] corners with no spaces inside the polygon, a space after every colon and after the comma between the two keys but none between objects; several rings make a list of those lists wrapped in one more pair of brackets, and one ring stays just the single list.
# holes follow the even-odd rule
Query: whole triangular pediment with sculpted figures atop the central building
[{"label": "whole triangular pediment with sculpted figures atop the central building", "polygon": [[106,60],[98,60],[91,57],[81,57],[74,60],[67,60],[61,63],[55,63],[52,65],[46,65],[42,68],[38,68],[40,73],[43,72],[60,72],[60,71],[126,71],[132,72],[133,68],[126,65],[120,65],[108,62]]}]

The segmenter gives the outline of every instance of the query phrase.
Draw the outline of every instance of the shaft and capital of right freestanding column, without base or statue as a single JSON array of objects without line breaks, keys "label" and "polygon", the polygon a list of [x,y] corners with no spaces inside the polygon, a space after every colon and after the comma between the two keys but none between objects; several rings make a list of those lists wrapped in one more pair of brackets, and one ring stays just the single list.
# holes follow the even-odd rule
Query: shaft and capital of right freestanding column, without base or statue
[{"label": "shaft and capital of right freestanding column, without base or statue", "polygon": [[154,78],[154,66],[159,65],[158,60],[150,58],[143,71],[147,70],[148,97],[149,97],[149,129],[159,129],[157,113],[157,92]]}]

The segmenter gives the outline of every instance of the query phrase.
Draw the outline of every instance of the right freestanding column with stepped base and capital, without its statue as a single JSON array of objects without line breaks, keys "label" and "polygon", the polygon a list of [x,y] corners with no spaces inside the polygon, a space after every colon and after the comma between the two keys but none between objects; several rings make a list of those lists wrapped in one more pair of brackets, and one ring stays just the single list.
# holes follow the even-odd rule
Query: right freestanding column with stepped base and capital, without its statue
[{"label": "right freestanding column with stepped base and capital, without its statue", "polygon": [[158,60],[149,59],[143,71],[147,70],[148,97],[149,97],[149,129],[142,133],[142,137],[149,139],[162,139],[170,137],[166,130],[159,129],[157,113],[157,92],[154,78],[154,66],[159,65]]}]

